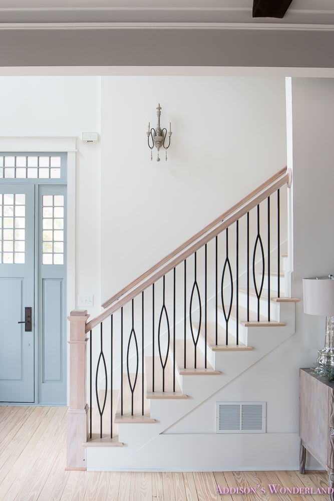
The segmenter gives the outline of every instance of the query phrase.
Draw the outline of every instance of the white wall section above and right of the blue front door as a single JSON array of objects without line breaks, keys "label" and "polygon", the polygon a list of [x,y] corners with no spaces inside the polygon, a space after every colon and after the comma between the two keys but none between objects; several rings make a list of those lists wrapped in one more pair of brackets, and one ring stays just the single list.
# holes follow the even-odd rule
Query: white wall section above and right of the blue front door
[{"label": "white wall section above and right of the blue front door", "polygon": [[[100,312],[100,77],[0,77],[0,136],[78,136],[76,296],[94,294]],[[73,298],[72,304],[75,304]]]}]

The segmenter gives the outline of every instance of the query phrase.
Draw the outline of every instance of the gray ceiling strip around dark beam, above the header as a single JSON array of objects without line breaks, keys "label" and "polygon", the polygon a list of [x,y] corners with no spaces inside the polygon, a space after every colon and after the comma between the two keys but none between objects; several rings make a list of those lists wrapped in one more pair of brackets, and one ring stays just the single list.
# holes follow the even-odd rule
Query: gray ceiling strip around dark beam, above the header
[{"label": "gray ceiling strip around dark beam, above the header", "polygon": [[252,0],[0,0],[0,23],[334,24],[332,0],[293,0],[282,20],[251,12]]}]

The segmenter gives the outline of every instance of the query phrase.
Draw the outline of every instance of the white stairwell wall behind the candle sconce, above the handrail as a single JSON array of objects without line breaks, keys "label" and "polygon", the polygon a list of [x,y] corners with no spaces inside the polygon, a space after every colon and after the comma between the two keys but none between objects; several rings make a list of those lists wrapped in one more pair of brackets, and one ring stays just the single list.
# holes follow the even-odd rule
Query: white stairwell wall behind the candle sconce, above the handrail
[{"label": "white stairwell wall behind the candle sconce, above the handrail", "polygon": [[284,167],[286,136],[282,78],[102,77],[101,102],[104,301]]}]

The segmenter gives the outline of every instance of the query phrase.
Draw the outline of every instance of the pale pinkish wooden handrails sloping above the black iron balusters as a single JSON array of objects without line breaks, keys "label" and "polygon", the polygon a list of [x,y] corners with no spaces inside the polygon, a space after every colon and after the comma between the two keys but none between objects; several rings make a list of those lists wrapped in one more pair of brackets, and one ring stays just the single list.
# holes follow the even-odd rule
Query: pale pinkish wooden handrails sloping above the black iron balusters
[{"label": "pale pinkish wooden handrails sloping above the black iron balusters", "polygon": [[173,270],[173,268],[182,263],[186,258],[194,254],[196,250],[224,231],[224,229],[228,228],[237,219],[240,219],[240,217],[245,215],[253,207],[256,207],[258,203],[265,200],[281,186],[286,183],[290,183],[290,180],[291,174],[286,167],[271,176],[267,181],[261,184],[240,202],[224,212],[220,217],[217,217],[217,219],[208,224],[204,229],[196,233],[176,250],[159,261],[159,263],[150,268],[150,270],[143,273],[143,275],[131,282],[131,284],[124,287],[124,289],[115,294],[112,298],[108,299],[108,301],[105,301],[102,305],[103,308],[109,308],[86,325],[86,332],[93,329],[93,327],[115,313],[154,282],[166,275],[166,273]]}]

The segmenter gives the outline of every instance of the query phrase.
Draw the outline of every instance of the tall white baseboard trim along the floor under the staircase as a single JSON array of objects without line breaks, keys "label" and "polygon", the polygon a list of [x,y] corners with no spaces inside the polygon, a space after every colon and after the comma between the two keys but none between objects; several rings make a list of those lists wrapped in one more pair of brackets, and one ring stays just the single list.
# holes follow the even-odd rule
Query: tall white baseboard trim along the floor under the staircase
[{"label": "tall white baseboard trim along the floor under the staircase", "polygon": [[[118,450],[118,447],[87,447],[87,471],[299,469],[298,433],[161,434],[136,451],[127,468],[112,468],[110,464],[115,463]],[[157,454],[157,450],[164,452]],[[323,469],[308,453],[306,468]]]}]

